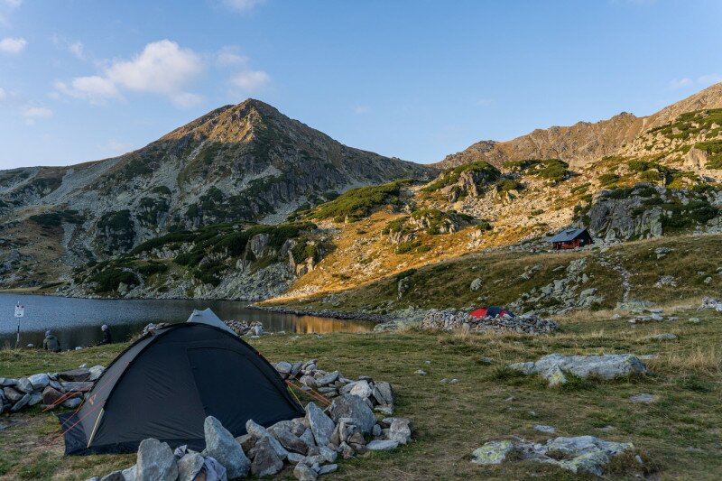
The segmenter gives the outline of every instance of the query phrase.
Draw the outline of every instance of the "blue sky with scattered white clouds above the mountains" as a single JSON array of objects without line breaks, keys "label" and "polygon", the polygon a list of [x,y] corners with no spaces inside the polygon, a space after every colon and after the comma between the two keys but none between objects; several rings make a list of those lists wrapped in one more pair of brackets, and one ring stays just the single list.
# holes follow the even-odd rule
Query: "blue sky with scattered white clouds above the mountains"
[{"label": "blue sky with scattered white clouds above the mountains", "polygon": [[115,156],[260,98],[437,162],[722,80],[722,2],[0,0],[0,169]]}]

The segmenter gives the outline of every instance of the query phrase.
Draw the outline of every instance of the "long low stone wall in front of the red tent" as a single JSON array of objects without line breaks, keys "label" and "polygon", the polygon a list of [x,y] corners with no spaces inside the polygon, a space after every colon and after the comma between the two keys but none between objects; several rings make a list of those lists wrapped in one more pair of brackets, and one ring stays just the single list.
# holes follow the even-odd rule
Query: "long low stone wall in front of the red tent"
[{"label": "long low stone wall in front of the red tent", "polygon": [[421,321],[421,328],[430,330],[457,330],[471,332],[511,331],[523,334],[549,334],[557,329],[551,319],[533,314],[475,318],[463,310],[429,310]]}]

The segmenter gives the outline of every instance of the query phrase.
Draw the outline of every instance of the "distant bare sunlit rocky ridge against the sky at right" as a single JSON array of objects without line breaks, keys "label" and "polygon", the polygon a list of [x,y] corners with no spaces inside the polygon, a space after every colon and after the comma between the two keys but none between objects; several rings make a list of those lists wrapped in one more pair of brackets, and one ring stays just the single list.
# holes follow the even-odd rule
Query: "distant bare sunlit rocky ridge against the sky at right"
[{"label": "distant bare sunlit rocky ridge against the sky at right", "polygon": [[505,142],[481,141],[459,153],[448,155],[436,167],[448,169],[468,162],[486,161],[496,167],[524,159],[558,158],[579,168],[607,155],[614,155],[638,135],[665,125],[685,112],[722,107],[722,84],[663,108],[652,116],[637,117],[623,112],[597,123],[537,129]]}]

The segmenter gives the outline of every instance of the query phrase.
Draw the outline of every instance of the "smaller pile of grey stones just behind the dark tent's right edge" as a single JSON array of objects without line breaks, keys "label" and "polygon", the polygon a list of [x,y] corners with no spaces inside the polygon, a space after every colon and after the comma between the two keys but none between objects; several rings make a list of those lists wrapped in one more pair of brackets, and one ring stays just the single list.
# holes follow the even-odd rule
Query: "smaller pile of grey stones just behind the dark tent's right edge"
[{"label": "smaller pile of grey stones just behind the dark tent's right edge", "polygon": [[351,394],[359,397],[375,412],[384,416],[393,414],[393,389],[385,381],[374,381],[366,375],[353,381],[338,371],[319,369],[316,359],[296,363],[280,362],[275,368],[283,379],[297,382],[304,391],[314,390],[329,399]]}]

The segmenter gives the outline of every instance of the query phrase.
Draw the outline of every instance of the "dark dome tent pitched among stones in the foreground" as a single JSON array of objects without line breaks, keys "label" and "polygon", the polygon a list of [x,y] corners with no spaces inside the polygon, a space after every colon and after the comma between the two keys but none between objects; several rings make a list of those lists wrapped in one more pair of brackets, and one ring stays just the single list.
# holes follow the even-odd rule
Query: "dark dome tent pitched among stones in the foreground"
[{"label": "dark dome tent pitched among stones in the foreground", "polygon": [[249,419],[270,426],[303,414],[253,347],[224,329],[187,322],[127,347],[60,423],[65,453],[80,455],[134,452],[147,438],[201,450],[207,416],[237,437]]}]

